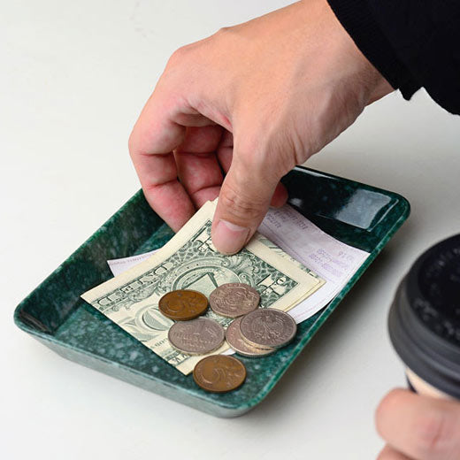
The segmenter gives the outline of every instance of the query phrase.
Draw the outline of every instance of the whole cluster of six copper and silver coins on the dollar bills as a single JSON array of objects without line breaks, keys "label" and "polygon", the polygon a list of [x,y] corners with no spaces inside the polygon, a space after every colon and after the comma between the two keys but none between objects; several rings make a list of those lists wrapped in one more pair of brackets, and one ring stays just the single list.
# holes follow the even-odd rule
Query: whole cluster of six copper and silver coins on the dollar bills
[{"label": "whole cluster of six copper and silver coins on the dollar bills", "polygon": [[[210,295],[211,310],[234,318],[225,329],[211,318],[199,318],[208,309],[205,295],[192,290],[165,294],[159,311],[176,323],[168,332],[172,347],[188,355],[205,355],[219,349],[226,340],[243,357],[265,357],[295,337],[296,325],[283,311],[259,309],[260,295],[244,283],[227,283]],[[196,364],[194,380],[206,391],[223,393],[240,387],[246,379],[242,362],[225,355],[204,357]]]}]

